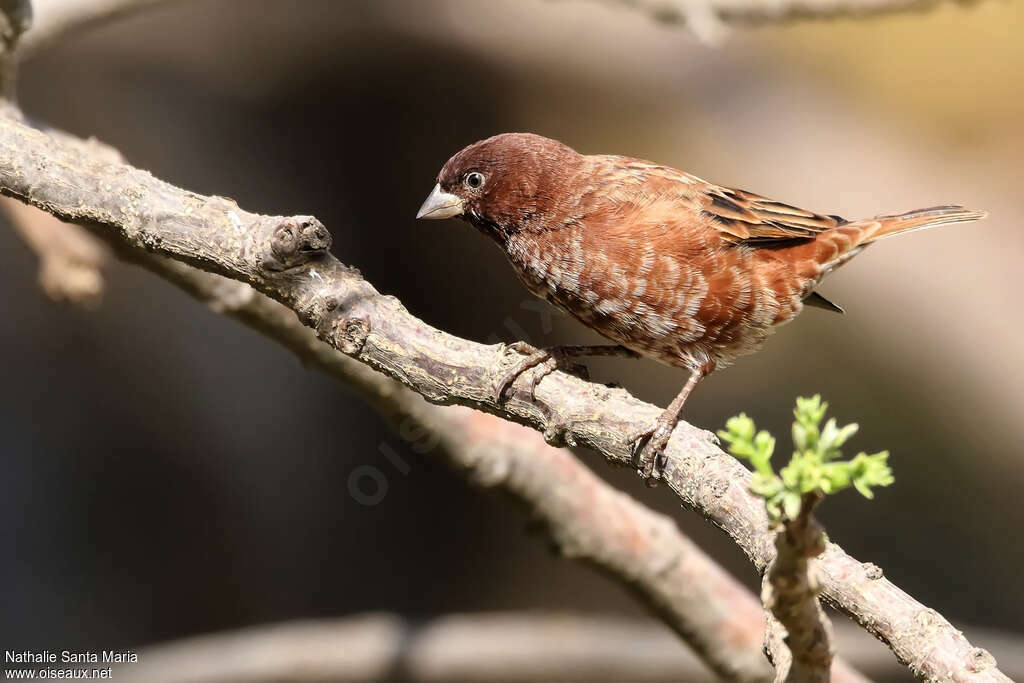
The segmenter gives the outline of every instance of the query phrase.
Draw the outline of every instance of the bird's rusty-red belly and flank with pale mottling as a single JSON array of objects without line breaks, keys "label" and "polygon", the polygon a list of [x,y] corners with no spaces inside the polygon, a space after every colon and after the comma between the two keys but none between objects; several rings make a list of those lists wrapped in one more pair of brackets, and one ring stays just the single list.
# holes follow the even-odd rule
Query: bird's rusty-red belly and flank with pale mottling
[{"label": "bird's rusty-red belly and flank with pale mottling", "polygon": [[595,240],[583,228],[514,234],[506,245],[539,297],[612,341],[678,367],[727,365],[801,309],[782,260],[732,247],[673,253],[643,234]]}]

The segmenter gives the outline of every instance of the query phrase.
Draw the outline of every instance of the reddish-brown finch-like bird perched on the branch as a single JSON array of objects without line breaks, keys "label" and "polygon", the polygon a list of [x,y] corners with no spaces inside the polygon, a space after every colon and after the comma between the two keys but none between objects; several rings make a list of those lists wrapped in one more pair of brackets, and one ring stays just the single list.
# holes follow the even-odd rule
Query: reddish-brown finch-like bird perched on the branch
[{"label": "reddish-brown finch-like bird perched on the branch", "polygon": [[761,348],[805,306],[842,312],[816,291],[822,278],[879,240],[985,215],[948,205],[847,220],[663,164],[503,133],[449,159],[416,217],[469,222],[532,294],[613,342],[513,345],[523,357],[497,382],[498,399],[536,369],[532,396],[571,357],[644,356],[689,372],[660,416],[629,437],[653,483],[700,380]]}]

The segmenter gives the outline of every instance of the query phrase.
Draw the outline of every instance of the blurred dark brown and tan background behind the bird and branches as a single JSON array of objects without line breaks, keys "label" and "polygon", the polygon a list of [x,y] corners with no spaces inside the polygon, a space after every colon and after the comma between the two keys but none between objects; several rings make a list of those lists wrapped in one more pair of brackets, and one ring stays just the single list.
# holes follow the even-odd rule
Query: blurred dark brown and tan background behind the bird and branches
[{"label": "blurred dark brown and tan background behind the bird and branches", "polygon": [[[1024,632],[1022,31],[1024,7],[996,0],[739,29],[717,48],[597,2],[196,0],[33,58],[19,97],[186,188],[315,214],[381,292],[484,342],[595,339],[558,314],[548,328],[467,225],[413,219],[441,164],[494,133],[851,218],[987,209],[859,256],[821,288],[845,315],[808,310],[703,382],[685,417],[715,429],[743,411],[787,443],[794,397],[821,393],[896,474],[870,503],[829,500],[830,538],[958,627]],[[259,334],[128,265],[95,310],[50,302],[36,269],[0,229],[5,648],[364,610],[642,613]],[[647,360],[591,368],[659,404],[685,379]],[[581,455],[758,585],[671,494]],[[350,492],[360,465],[385,476],[374,505]]]}]

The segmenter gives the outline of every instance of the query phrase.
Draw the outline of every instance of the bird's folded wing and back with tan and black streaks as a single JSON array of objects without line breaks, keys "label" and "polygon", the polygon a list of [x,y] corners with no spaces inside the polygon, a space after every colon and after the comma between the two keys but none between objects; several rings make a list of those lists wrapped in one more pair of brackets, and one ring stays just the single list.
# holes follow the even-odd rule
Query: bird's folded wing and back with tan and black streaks
[{"label": "bird's folded wing and back with tan and black streaks", "polygon": [[600,165],[603,191],[612,191],[613,200],[637,207],[662,205],[668,213],[671,204],[675,219],[707,219],[721,238],[733,244],[777,245],[808,240],[818,232],[842,225],[840,216],[828,216],[776,202],[743,189],[733,189],[701,180],[683,171],[626,157],[604,157]]}]

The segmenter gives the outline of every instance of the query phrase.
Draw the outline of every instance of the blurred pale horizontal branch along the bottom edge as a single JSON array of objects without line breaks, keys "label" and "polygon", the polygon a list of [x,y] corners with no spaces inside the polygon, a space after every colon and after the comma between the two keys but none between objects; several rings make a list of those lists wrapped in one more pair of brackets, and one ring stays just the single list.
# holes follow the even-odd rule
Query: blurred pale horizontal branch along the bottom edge
[{"label": "blurred pale horizontal branch along the bottom edge", "polygon": [[[862,632],[840,629],[858,667],[901,669]],[[865,642],[866,641],[866,642]],[[1010,643],[1013,646],[1019,643]],[[880,656],[882,655],[882,656]],[[303,683],[402,680],[459,683],[719,680],[646,620],[571,613],[394,614],[289,622],[144,647],[115,666],[121,683]]]}]

